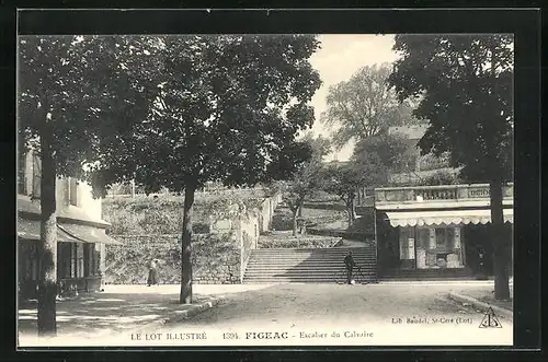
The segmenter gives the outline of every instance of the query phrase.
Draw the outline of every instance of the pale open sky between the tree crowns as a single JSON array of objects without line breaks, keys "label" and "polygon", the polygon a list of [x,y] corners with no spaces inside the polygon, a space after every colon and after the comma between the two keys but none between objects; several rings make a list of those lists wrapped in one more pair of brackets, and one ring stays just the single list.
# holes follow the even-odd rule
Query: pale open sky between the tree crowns
[{"label": "pale open sky between the tree crowns", "polygon": [[[315,107],[315,135],[329,136],[331,130],[320,122],[320,115],[327,109],[326,97],[329,86],[349,80],[364,66],[392,62],[397,54],[392,50],[393,35],[370,34],[322,34],[318,36],[321,49],[310,58],[310,63],[318,70],[322,80],[311,105]],[[327,157],[327,161],[346,161],[352,155],[353,143]]]}]

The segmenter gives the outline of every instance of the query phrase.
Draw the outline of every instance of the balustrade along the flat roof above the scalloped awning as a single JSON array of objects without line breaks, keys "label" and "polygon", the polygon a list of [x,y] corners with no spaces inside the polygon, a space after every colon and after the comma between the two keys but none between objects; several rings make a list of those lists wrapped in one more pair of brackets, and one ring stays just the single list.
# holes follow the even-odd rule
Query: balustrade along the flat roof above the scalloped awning
[{"label": "balustrade along the flat roof above the scalloped awning", "polygon": [[[514,197],[514,184],[502,187],[503,198]],[[375,202],[489,199],[488,184],[387,187],[375,189]]]}]

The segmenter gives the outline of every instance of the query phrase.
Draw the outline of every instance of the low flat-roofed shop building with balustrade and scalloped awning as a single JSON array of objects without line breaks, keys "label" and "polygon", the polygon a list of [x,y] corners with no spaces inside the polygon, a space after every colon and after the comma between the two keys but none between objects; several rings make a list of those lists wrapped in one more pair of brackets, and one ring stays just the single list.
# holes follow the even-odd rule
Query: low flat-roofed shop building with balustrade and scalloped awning
[{"label": "low flat-roofed shop building with balustrade and scalloped awning", "polygon": [[[503,188],[503,206],[512,240],[513,184]],[[375,218],[380,278],[492,273],[489,185],[378,188]]]}]

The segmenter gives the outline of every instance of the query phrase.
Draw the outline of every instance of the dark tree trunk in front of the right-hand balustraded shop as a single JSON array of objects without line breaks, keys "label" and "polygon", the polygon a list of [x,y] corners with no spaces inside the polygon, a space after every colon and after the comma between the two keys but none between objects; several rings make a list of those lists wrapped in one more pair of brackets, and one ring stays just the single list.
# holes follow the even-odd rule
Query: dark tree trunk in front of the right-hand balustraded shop
[{"label": "dark tree trunk in front of the right-hand balustraded shop", "polygon": [[510,300],[509,287],[509,241],[504,232],[504,214],[502,205],[502,182],[489,184],[491,198],[491,230],[493,245],[494,297]]}]

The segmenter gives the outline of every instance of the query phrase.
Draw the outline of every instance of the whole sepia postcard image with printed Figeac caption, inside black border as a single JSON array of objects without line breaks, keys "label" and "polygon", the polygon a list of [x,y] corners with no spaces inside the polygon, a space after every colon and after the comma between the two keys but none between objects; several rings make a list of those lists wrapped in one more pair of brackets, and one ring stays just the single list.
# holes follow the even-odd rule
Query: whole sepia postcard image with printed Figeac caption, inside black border
[{"label": "whole sepia postcard image with printed Figeac caption, inside black border", "polygon": [[16,42],[19,349],[513,346],[512,34]]}]

